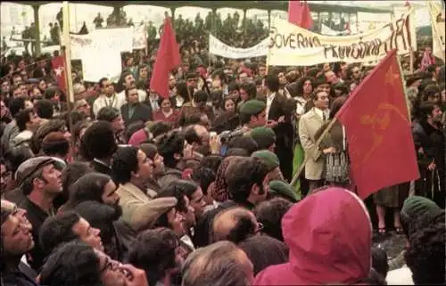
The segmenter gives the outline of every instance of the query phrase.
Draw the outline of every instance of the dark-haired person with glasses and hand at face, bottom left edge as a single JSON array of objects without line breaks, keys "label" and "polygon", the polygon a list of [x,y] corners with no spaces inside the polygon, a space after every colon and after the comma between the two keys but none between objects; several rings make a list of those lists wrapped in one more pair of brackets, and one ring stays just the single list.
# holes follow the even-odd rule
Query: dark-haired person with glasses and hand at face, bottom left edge
[{"label": "dark-haired person with glasses and hand at face, bottom left edge", "polygon": [[121,265],[80,241],[63,244],[48,257],[40,274],[47,286],[148,286],[145,272]]}]

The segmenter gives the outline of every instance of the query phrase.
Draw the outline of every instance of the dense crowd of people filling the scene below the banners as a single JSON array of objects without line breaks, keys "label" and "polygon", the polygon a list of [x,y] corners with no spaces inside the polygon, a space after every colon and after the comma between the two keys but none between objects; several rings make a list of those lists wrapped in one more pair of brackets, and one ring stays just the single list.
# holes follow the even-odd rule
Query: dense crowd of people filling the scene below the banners
[{"label": "dense crowd of people filling the scene below the banners", "polygon": [[[445,282],[445,76],[430,48],[405,78],[421,178],[367,208],[343,126],[316,143],[372,67],[267,67],[193,43],[167,98],[150,86],[156,53],[124,55],[117,84],[73,74],[71,104],[45,56],[2,61],[2,285]],[[372,244],[390,232],[407,241],[392,271]]]}]

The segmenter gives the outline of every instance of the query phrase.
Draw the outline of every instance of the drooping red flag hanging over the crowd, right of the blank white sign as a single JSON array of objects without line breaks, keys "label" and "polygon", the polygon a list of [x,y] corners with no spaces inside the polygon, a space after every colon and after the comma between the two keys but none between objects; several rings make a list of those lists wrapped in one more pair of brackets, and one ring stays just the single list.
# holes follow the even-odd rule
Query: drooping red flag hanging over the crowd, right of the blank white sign
[{"label": "drooping red flag hanging over the crowd, right of the blank white sign", "polygon": [[150,88],[163,98],[169,97],[169,72],[181,63],[175,32],[170,18],[164,20],[160,47],[153,65]]}]

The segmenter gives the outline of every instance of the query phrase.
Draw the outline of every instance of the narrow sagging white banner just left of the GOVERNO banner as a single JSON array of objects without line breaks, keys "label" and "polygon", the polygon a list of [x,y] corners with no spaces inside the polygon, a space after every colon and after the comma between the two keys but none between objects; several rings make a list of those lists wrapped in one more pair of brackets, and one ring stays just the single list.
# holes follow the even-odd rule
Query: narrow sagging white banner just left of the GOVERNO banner
[{"label": "narrow sagging white banner just left of the GOVERNO banner", "polygon": [[209,35],[209,53],[228,59],[245,59],[265,56],[268,53],[269,38],[249,48],[236,48],[226,45],[217,37]]}]

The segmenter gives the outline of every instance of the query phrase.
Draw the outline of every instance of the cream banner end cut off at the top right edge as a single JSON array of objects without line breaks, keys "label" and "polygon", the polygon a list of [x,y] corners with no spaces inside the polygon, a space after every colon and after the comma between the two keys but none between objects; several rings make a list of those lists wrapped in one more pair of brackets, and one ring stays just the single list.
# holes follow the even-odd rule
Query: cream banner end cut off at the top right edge
[{"label": "cream banner end cut off at the top right edge", "polygon": [[427,1],[429,14],[431,15],[432,25],[432,43],[434,56],[444,61],[445,44],[444,44],[444,10],[439,4],[434,1]]}]

